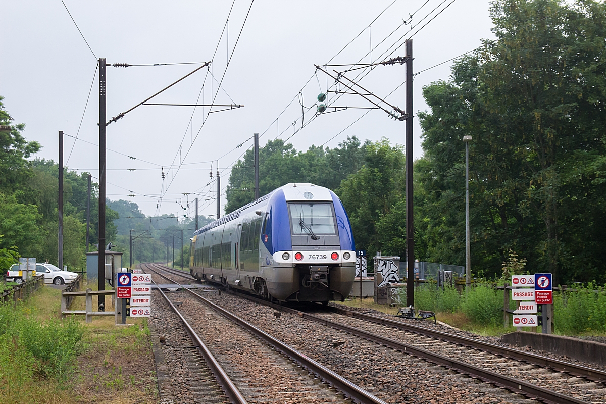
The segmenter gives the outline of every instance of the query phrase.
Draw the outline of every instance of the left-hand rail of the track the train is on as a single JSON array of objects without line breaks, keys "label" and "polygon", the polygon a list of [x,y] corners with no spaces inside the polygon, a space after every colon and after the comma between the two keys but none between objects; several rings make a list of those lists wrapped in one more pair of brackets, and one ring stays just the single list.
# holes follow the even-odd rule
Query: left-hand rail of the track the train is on
[{"label": "left-hand rail of the track the train is on", "polygon": [[530,399],[540,400],[547,404],[588,404],[588,402],[586,401],[566,396],[565,394],[561,394],[556,391],[551,391],[550,389],[546,389],[540,386],[535,386],[532,383],[525,382],[524,380],[514,379],[513,377],[505,376],[490,371],[488,369],[482,369],[479,366],[471,365],[470,363],[462,362],[461,360],[457,359],[452,359],[441,354],[436,354],[431,351],[427,351],[426,349],[418,348],[416,346],[396,341],[388,337],[369,333],[368,331],[364,331],[363,329],[348,326],[332,320],[323,319],[322,317],[314,316],[313,314],[305,313],[304,311],[277,305],[276,303],[270,303],[265,300],[257,299],[256,297],[247,296],[245,294],[237,293],[237,296],[244,297],[245,299],[252,300],[253,302],[258,302],[270,306],[271,308],[275,308],[276,310],[298,314],[303,318],[310,319],[336,329],[340,329],[341,331],[345,331],[346,333],[362,337],[372,342],[381,343],[382,345],[389,346],[390,348],[397,349],[398,351],[411,354],[413,356],[427,360],[428,362],[435,363],[436,365],[445,366],[449,369],[453,369],[458,373],[466,374],[467,376],[473,377],[474,379],[479,379],[483,382],[491,383],[498,387],[508,389],[509,391],[515,394],[522,394],[522,396],[528,397]]}]

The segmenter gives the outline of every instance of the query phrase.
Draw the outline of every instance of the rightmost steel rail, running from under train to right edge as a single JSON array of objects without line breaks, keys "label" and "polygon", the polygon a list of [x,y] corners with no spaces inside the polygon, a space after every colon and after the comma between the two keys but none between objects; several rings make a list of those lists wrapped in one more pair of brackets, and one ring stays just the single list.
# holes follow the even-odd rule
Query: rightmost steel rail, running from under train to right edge
[{"label": "rightmost steel rail, running from under train to right edge", "polygon": [[519,359],[524,362],[528,362],[531,365],[540,365],[546,368],[550,368],[559,372],[565,372],[572,376],[583,377],[584,379],[591,380],[593,382],[606,383],[606,372],[600,369],[590,368],[588,366],[578,365],[576,363],[565,362],[564,360],[552,359],[550,357],[541,356],[538,354],[528,353],[520,351],[519,349],[507,348],[506,346],[500,346],[493,343],[482,342],[467,337],[461,337],[454,334],[443,333],[442,331],[436,331],[435,329],[424,328],[416,325],[410,325],[407,323],[399,322],[396,320],[384,319],[382,317],[371,316],[370,314],[358,313],[356,311],[347,310],[344,308],[330,306],[331,311],[344,314],[347,316],[358,317],[362,320],[378,323],[381,325],[387,325],[404,331],[410,331],[412,333],[425,335],[428,337],[444,340],[447,342],[457,343],[459,345],[467,346],[488,353],[498,354],[510,359]]}]

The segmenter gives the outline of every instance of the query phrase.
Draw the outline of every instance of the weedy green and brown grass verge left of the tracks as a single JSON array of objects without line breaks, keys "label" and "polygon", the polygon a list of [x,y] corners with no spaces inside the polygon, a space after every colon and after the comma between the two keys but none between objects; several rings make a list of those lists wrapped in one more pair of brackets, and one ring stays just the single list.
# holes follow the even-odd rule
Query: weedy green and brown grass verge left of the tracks
[{"label": "weedy green and brown grass verge left of the tracks", "polygon": [[[72,309],[84,305],[77,297]],[[158,402],[147,319],[87,324],[84,316],[61,319],[60,307],[61,290],[48,285],[17,308],[0,306],[0,403]]]}]

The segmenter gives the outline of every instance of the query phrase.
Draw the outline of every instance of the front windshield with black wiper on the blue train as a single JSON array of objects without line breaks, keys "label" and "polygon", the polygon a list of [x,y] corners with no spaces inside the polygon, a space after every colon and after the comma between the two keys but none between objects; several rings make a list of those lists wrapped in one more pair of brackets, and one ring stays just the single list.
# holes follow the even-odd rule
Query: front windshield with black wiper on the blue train
[{"label": "front windshield with black wiper on the blue train", "polygon": [[337,234],[332,204],[288,204],[293,235]]}]

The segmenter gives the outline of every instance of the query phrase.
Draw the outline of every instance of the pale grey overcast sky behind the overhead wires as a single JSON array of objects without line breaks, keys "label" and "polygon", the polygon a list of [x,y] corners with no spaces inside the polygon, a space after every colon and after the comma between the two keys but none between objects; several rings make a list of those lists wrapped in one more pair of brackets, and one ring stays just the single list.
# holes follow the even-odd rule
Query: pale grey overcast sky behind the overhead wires
[{"label": "pale grey overcast sky behind the overhead wires", "polygon": [[[232,1],[64,1],[92,51],[61,0],[2,2],[0,96],[15,122],[26,124],[25,137],[42,144],[38,157],[57,161],[59,130],[76,136],[93,83],[78,133],[82,140],[65,137],[64,150],[67,167],[98,176],[98,75],[93,82],[97,58],[130,64],[212,61],[209,69],[202,68],[150,102],[210,104],[217,94],[215,104],[245,105],[210,115],[208,108],[201,107],[194,111],[193,107],[141,106],[108,125],[107,148],[126,156],[107,151],[107,196],[134,200],[150,215],[191,215],[195,193],[200,198],[200,214],[215,214],[215,200],[204,200],[216,197],[216,183],[207,185],[210,161],[214,172],[219,159],[221,188],[225,188],[228,167],[251,147],[247,139],[253,133],[262,134],[262,146],[276,136],[287,139],[301,128],[299,91],[305,107],[313,109],[305,114],[306,126],[288,139],[297,150],[307,150],[312,144],[336,147],[353,135],[362,141],[385,136],[393,144],[404,144],[404,122],[393,121],[380,110],[350,109],[314,118],[318,93],[335,90],[334,80],[321,71],[316,78],[314,64],[404,56],[402,44],[414,34],[413,71],[417,72],[493,38],[486,0],[396,0],[370,27],[393,0],[256,0],[252,7],[250,0],[235,0],[227,24]],[[410,24],[402,24],[415,12],[410,30]],[[107,119],[197,66],[108,67]],[[353,79],[361,72],[346,76]],[[379,66],[359,83],[384,98],[404,82],[404,75],[404,66]],[[450,62],[415,76],[415,112],[427,109],[422,87],[449,75]],[[329,99],[328,104],[370,105],[359,96],[341,97]],[[404,85],[387,100],[404,109]],[[422,156],[420,135],[415,119],[415,157]],[[244,141],[244,146],[236,148]],[[128,196],[130,191],[136,196]],[[182,210],[188,203],[190,208]]]}]

